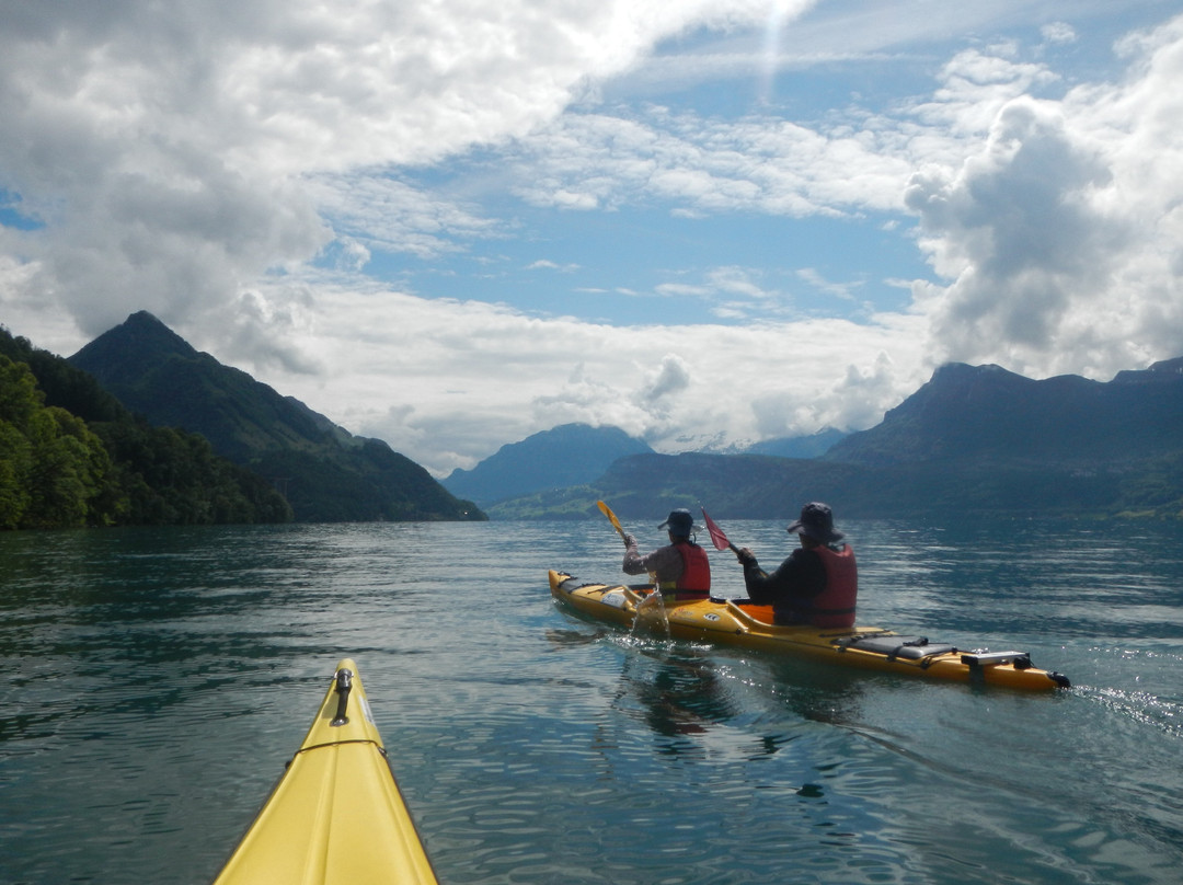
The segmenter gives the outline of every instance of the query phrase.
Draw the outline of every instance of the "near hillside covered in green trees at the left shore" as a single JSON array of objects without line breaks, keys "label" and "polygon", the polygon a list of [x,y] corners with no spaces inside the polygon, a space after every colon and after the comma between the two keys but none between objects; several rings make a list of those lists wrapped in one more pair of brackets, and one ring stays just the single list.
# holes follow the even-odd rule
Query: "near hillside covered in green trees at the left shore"
[{"label": "near hillside covered in green trees at the left shore", "polygon": [[91,375],[0,328],[5,357],[0,528],[291,521],[267,480],[202,437],[150,426]]}]

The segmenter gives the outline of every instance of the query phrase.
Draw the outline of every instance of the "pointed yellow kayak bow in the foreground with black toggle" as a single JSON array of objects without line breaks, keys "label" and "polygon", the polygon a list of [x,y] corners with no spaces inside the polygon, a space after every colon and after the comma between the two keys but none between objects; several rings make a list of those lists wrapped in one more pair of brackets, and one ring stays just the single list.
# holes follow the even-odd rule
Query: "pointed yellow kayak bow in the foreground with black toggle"
[{"label": "pointed yellow kayak bow in the foreground with black toggle", "polygon": [[345,658],[304,743],[214,885],[435,881],[357,665]]}]

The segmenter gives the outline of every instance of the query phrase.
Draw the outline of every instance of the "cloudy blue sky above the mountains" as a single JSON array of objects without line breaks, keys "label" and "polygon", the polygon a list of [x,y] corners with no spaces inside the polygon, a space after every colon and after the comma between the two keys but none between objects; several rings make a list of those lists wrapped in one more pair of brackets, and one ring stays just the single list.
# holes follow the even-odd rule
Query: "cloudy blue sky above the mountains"
[{"label": "cloudy blue sky above the mountains", "polygon": [[0,2],[0,323],[149,310],[437,476],[1183,354],[1183,4]]}]

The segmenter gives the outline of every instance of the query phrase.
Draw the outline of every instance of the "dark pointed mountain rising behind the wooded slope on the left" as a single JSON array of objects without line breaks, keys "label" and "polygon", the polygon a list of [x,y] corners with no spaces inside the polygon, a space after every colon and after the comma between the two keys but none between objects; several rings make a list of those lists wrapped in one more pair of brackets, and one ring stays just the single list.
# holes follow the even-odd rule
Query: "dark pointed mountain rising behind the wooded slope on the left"
[{"label": "dark pointed mountain rising behind the wooded slope on the left", "polygon": [[199,433],[273,483],[299,522],[486,518],[382,440],[355,437],[199,353],[148,312],[67,360],[151,425]]}]

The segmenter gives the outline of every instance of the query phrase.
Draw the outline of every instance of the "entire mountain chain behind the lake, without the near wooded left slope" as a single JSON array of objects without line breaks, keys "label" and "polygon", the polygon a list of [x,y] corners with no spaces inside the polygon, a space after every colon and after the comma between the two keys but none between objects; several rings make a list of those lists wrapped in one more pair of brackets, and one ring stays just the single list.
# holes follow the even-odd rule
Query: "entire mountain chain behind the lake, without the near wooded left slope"
[{"label": "entire mountain chain behind the lake, without the near wooded left slope", "polygon": [[[86,383],[65,377],[60,357],[18,350],[44,363],[41,380],[57,376],[47,405],[98,427],[108,420],[98,412],[112,407],[96,403],[112,394],[150,425],[200,434],[306,522],[484,519],[481,506],[498,519],[588,518],[597,499],[636,518],[699,502],[717,518],[788,518],[810,499],[864,517],[1183,516],[1183,357],[1108,382],[950,363],[875,427],[744,453],[658,454],[615,427],[563,425],[441,484],[386,442],[196,351],[147,312],[69,357]],[[256,513],[272,506],[261,487],[235,500],[244,493]]]}]

